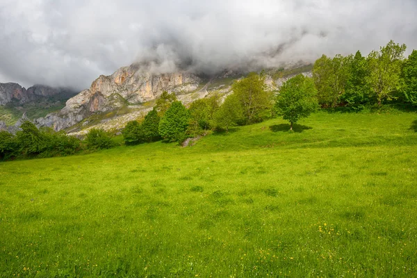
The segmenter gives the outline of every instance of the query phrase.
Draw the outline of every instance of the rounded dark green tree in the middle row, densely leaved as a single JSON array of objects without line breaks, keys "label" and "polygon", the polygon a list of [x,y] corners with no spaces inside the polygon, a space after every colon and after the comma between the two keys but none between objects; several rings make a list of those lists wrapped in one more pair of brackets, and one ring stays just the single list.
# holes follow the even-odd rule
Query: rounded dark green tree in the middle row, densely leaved
[{"label": "rounded dark green tree in the middle row, densely leaved", "polygon": [[170,141],[185,139],[190,114],[181,101],[174,101],[159,122],[159,134]]}]

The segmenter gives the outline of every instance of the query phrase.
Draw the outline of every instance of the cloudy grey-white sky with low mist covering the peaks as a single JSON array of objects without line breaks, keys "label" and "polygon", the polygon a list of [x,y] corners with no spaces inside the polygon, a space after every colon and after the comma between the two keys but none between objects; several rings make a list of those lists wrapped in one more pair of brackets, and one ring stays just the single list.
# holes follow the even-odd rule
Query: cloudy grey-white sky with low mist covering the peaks
[{"label": "cloudy grey-white sky with low mist covering the peaks", "polygon": [[280,67],[417,49],[416,0],[0,0],[0,82],[89,88],[139,63],[154,74]]}]

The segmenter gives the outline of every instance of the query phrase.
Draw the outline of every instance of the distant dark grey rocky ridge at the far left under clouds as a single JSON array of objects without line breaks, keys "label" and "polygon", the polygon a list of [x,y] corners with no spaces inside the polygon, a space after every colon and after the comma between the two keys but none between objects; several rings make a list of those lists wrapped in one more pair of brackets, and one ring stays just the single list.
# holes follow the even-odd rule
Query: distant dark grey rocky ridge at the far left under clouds
[{"label": "distant dark grey rocky ridge at the far left under clouds", "polygon": [[17,83],[0,83],[0,105],[9,104],[13,100],[25,104],[39,97],[51,97],[59,93],[60,90],[44,85],[34,85],[26,90]]}]

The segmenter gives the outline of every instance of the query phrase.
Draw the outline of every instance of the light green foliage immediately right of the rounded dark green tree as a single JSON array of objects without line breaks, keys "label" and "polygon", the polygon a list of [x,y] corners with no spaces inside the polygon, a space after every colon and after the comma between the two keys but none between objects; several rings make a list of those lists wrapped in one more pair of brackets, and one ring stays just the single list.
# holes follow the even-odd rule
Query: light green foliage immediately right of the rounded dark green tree
[{"label": "light green foliage immediately right of the rounded dark green tree", "polygon": [[206,99],[197,99],[190,105],[189,131],[193,135],[204,133],[213,127],[215,111],[219,108],[219,97],[215,95]]}]

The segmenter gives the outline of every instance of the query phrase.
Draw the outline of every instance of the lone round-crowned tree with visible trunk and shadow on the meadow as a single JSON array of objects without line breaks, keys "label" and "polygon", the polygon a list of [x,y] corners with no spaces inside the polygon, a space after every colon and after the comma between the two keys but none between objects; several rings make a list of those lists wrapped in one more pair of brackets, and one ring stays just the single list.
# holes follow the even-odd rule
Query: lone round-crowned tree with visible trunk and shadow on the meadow
[{"label": "lone round-crowned tree with visible trunk and shadow on the meadow", "polygon": [[278,115],[293,124],[303,117],[309,117],[317,110],[317,90],[313,80],[302,74],[294,76],[282,85],[275,104]]}]

